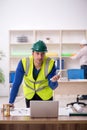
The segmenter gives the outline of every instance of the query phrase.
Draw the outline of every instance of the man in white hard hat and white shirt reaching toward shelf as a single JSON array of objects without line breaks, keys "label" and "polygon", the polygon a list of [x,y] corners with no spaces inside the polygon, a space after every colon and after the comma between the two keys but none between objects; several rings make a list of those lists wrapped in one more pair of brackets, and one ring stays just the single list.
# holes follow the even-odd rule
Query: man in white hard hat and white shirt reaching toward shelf
[{"label": "man in white hard hat and white shirt reaching toward shelf", "polygon": [[[72,56],[72,59],[79,59],[81,69],[84,70],[84,78],[87,79],[87,41],[84,39],[80,42],[80,51]],[[82,95],[81,99],[87,99],[87,95]]]}]

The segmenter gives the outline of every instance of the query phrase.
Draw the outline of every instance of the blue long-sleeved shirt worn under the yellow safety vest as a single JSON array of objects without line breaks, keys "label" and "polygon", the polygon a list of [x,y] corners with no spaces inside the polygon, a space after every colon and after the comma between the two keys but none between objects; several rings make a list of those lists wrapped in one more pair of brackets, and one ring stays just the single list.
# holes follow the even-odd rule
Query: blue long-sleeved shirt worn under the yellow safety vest
[{"label": "blue long-sleeved shirt worn under the yellow safety vest", "polygon": [[[36,75],[38,75],[39,71],[40,70],[37,70],[37,69],[34,68],[34,73]],[[18,94],[18,91],[19,91],[20,85],[22,83],[24,74],[25,74],[25,72],[24,72],[24,69],[23,69],[22,61],[20,61],[18,66],[17,66],[16,72],[15,72],[15,79],[14,79],[14,82],[13,82],[13,85],[12,85],[12,88],[11,88],[11,92],[10,92],[9,103],[11,103],[11,104],[14,103],[14,101],[15,101],[15,98]],[[53,90],[58,86],[57,81],[52,82],[50,80],[50,78],[52,78],[55,74],[56,74],[56,66],[54,64],[52,71],[50,72],[50,74],[47,75],[47,79],[49,81],[49,86]]]}]

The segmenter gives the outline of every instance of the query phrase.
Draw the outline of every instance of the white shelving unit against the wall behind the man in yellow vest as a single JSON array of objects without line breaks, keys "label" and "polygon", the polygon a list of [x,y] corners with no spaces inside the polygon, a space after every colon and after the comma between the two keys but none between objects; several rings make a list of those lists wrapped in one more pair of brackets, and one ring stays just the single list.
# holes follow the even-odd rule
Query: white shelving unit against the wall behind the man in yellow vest
[{"label": "white shelving unit against the wall behind the man in yellow vest", "polygon": [[61,78],[67,79],[67,69],[80,68],[79,61],[72,61],[70,56],[80,49],[79,43],[84,38],[87,30],[10,30],[10,71],[15,71],[22,57],[31,55],[34,42],[43,40],[48,48],[47,56],[60,62]]}]

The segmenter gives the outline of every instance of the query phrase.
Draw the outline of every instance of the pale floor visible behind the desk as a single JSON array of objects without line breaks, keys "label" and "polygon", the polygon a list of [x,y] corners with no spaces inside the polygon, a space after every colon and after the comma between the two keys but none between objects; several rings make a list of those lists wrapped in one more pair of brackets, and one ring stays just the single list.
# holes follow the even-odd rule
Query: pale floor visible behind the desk
[{"label": "pale floor visible behind the desk", "polygon": [[[65,107],[67,103],[76,101],[76,95],[55,95],[54,100],[59,101],[60,107]],[[0,97],[0,107],[2,107],[3,104],[7,104],[8,101],[9,97]],[[84,102],[87,103],[87,100],[85,100]],[[16,108],[26,107],[24,96],[17,96],[14,105]]]}]

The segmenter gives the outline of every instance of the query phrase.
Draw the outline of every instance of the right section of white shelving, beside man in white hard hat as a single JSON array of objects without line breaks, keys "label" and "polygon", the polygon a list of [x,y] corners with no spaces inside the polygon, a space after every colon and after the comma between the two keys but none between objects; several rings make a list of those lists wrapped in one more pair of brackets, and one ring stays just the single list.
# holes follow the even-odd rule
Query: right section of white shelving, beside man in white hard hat
[{"label": "right section of white shelving, beside man in white hard hat", "polygon": [[61,58],[64,59],[62,77],[67,77],[67,69],[80,68],[79,60],[72,61],[70,56],[80,49],[80,41],[86,38],[86,30],[61,30]]}]

